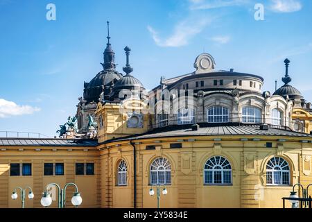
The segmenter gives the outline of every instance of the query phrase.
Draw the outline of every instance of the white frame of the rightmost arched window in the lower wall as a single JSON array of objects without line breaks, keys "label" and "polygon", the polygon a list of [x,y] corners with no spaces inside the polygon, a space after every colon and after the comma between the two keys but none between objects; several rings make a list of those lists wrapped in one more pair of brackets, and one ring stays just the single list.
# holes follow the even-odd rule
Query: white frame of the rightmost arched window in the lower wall
[{"label": "white frame of the rightmost arched window in the lower wall", "polygon": [[[286,163],[286,164],[284,164]],[[283,166],[284,164],[284,166]],[[276,183],[275,177],[279,173],[279,183]],[[287,183],[283,183],[283,173],[288,173]],[[271,182],[268,182],[268,176]],[[288,162],[282,157],[272,157],[266,164],[266,185],[272,186],[289,186],[291,185],[291,170]]]}]

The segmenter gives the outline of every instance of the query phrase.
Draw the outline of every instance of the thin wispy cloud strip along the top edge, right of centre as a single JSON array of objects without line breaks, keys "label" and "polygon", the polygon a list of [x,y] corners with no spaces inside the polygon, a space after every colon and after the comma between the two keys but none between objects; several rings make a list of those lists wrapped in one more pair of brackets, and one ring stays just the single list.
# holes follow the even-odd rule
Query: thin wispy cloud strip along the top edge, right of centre
[{"label": "thin wispy cloud strip along the top edge, right of centre", "polygon": [[212,8],[223,8],[231,6],[243,6],[250,0],[189,0],[191,10],[206,10]]}]

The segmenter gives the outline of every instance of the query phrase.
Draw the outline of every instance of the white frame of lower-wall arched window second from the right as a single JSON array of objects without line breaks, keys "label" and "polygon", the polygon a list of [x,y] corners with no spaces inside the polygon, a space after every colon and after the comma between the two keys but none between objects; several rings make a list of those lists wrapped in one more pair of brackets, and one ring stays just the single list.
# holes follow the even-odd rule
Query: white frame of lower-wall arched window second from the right
[{"label": "white frame of lower-wall arched window second from the right", "polygon": [[[218,163],[217,163],[217,158],[218,157]],[[212,162],[212,160],[214,159],[214,162]],[[225,168],[228,167],[229,168]],[[207,177],[207,173],[206,172],[211,172],[212,173],[212,181],[211,182],[206,182],[206,177]],[[221,182],[215,182],[214,180],[214,176],[215,173],[220,173],[221,172]],[[230,182],[225,182],[225,172],[230,172]],[[210,157],[209,160],[207,160],[207,162],[205,162],[205,166],[204,166],[204,185],[232,185],[232,166],[231,163],[229,162],[229,160],[227,160],[227,158],[220,156],[220,155],[216,155],[213,157]]]}]

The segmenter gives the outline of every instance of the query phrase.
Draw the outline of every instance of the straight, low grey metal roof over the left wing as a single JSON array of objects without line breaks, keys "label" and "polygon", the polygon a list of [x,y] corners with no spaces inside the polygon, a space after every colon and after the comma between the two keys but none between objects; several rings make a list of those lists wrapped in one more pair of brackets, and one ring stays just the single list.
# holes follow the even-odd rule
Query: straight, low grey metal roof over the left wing
[{"label": "straight, low grey metal roof over the left wing", "polygon": [[96,139],[0,138],[0,146],[98,146]]}]

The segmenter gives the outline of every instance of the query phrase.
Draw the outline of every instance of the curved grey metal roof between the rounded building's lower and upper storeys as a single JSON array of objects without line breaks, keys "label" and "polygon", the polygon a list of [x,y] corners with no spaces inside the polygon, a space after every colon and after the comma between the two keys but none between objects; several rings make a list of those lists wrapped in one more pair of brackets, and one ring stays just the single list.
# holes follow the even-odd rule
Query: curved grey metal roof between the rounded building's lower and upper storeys
[{"label": "curved grey metal roof between the rounded building's lower and upper storeys", "polygon": [[158,128],[150,131],[149,133],[144,133],[141,135],[135,135],[131,137],[122,137],[118,139],[110,139],[103,144],[109,142],[118,142],[129,139],[150,139],[150,138],[161,138],[161,137],[188,137],[188,136],[223,136],[223,135],[242,135],[242,136],[288,136],[288,137],[305,137],[306,139],[312,140],[312,135],[306,133],[297,133],[295,131],[286,130],[287,128],[272,128],[270,126],[268,130],[260,130],[259,125],[242,125],[239,124],[227,124],[224,126],[206,126],[200,127],[198,130],[191,130],[191,126],[180,125],[180,126],[168,126],[166,128]]}]

